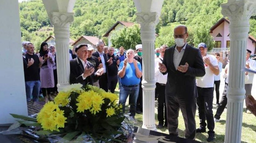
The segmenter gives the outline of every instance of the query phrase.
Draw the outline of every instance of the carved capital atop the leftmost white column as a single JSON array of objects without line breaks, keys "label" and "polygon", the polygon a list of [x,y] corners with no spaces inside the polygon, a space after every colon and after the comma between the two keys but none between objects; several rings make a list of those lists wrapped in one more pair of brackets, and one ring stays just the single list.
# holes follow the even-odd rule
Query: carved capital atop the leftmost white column
[{"label": "carved capital atop the leftmost white column", "polygon": [[51,24],[54,27],[63,27],[68,28],[70,24],[74,21],[74,13],[67,13],[67,12],[52,12],[50,20]]}]

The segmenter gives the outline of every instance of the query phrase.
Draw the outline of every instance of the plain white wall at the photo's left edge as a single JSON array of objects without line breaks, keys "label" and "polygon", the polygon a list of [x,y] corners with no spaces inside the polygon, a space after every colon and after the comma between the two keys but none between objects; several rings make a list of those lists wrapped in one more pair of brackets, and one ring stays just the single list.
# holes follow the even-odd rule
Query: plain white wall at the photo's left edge
[{"label": "plain white wall at the photo's left edge", "polygon": [[0,2],[0,19],[0,124],[9,124],[9,113],[27,115],[18,0]]}]

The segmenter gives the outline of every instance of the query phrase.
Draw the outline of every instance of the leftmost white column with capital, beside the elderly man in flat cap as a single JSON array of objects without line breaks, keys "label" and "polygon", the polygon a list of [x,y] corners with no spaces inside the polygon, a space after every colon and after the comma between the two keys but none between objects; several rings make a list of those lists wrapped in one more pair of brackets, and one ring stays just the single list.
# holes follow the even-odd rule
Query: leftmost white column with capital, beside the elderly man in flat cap
[{"label": "leftmost white column with capital, beside the elderly man in flat cap", "polygon": [[54,25],[54,37],[57,51],[58,90],[69,84],[69,26],[74,20],[74,13],[52,12],[49,16]]}]

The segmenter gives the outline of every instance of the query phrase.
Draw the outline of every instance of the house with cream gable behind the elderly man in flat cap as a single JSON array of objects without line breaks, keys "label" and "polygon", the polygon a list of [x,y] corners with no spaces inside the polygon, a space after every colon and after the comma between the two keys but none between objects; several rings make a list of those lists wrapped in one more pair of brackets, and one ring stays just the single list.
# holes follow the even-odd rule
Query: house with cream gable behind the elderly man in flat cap
[{"label": "house with cream gable behind the elderly man in flat cap", "polygon": [[94,36],[81,36],[71,46],[74,46],[74,48],[75,48],[79,44],[90,44],[90,45],[92,45],[92,47],[94,49],[97,50],[96,44],[99,41],[102,41],[102,40],[99,39],[98,37],[94,37]]}]

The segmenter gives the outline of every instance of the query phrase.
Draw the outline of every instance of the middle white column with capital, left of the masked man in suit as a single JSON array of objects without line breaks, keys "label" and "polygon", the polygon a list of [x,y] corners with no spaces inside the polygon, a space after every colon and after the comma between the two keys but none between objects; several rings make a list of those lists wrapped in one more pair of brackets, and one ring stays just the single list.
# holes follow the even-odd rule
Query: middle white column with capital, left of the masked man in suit
[{"label": "middle white column with capital, left of the masked man in suit", "polygon": [[156,130],[155,126],[155,25],[158,23],[157,12],[136,13],[136,20],[141,25],[143,47],[143,125],[142,128]]}]

